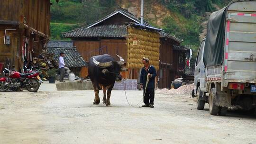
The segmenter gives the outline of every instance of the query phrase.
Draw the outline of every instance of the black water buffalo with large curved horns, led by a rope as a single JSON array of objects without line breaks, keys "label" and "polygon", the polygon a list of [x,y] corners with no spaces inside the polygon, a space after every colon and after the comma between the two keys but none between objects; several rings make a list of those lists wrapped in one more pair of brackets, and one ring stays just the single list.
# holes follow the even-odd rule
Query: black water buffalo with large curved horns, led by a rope
[{"label": "black water buffalo with large curved horns, led by a rope", "polygon": [[[110,94],[114,87],[115,81],[122,80],[120,71],[124,68],[121,66],[125,63],[124,59],[117,55],[120,61],[115,61],[109,54],[97,55],[91,57],[89,61],[89,77],[91,79],[95,98],[93,105],[98,105],[100,103],[99,91],[103,90],[104,97],[102,103],[106,106],[110,105]],[[108,98],[106,99],[106,91]]]}]

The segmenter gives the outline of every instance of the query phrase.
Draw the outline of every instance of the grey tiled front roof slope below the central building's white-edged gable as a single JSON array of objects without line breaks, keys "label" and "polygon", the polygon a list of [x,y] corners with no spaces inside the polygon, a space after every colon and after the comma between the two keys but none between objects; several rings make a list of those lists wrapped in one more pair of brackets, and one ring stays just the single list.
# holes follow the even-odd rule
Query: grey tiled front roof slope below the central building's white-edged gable
[{"label": "grey tiled front roof slope below the central building's white-edged gable", "polygon": [[65,33],[65,37],[126,37],[126,25],[101,25],[91,28],[79,28]]}]

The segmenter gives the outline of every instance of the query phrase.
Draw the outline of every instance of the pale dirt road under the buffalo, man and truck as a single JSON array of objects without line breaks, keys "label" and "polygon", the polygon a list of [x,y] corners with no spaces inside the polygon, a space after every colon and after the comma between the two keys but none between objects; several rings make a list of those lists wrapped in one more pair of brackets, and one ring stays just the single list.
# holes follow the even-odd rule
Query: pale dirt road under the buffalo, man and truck
[{"label": "pale dirt road under the buffalo, man and truck", "polygon": [[[155,108],[139,108],[116,90],[106,107],[92,105],[92,90],[40,90],[0,92],[0,144],[256,144],[256,117],[210,116],[188,95],[156,94]],[[141,99],[127,93],[132,104]]]}]

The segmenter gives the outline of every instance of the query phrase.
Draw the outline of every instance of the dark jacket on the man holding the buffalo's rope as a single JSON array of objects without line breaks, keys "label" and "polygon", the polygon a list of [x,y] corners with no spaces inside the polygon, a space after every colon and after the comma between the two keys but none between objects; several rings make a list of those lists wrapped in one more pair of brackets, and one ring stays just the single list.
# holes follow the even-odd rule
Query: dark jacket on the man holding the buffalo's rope
[{"label": "dark jacket on the man holding the buffalo's rope", "polygon": [[[151,78],[148,81],[147,87],[146,87],[146,76],[147,74],[150,73],[152,74]],[[155,88],[155,76],[156,76],[156,71],[155,71],[155,67],[153,65],[150,65],[148,68],[148,71],[146,71],[145,67],[143,67],[141,69],[141,73],[140,73],[140,83],[143,84],[143,89],[145,89],[145,87],[147,89],[153,89]]]}]

